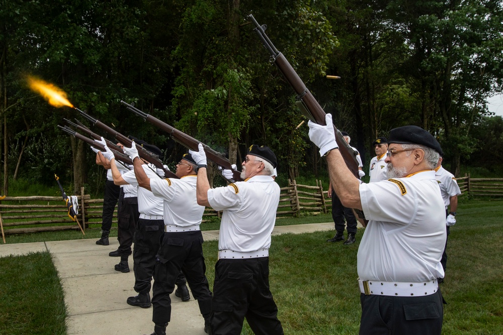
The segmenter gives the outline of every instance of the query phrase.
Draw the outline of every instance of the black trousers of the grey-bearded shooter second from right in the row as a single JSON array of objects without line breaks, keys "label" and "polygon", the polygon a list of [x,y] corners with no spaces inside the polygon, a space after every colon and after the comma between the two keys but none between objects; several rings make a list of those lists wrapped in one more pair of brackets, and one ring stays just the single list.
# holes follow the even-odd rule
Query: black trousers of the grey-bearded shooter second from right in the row
[{"label": "black trousers of the grey-bearded shooter second from right in the row", "polygon": [[212,301],[213,335],[239,335],[246,317],[256,334],[283,334],[269,289],[269,257],[219,259]]}]

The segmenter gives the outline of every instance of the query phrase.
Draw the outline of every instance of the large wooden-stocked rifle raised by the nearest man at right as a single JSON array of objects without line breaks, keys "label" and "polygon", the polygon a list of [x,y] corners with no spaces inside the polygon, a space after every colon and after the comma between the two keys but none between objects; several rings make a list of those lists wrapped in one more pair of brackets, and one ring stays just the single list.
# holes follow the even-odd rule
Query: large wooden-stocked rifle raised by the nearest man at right
[{"label": "large wooden-stocked rifle raised by the nearest man at right", "polygon": [[[254,31],[257,33],[259,38],[261,39],[264,47],[269,51],[271,57],[269,58],[269,62],[274,63],[278,69],[283,73],[288,83],[292,86],[296,96],[295,104],[300,109],[300,112],[307,119],[312,122],[317,123],[318,125],[325,125],[325,111],[319,105],[318,101],[314,98],[312,93],[307,89],[306,84],[300,79],[297,72],[293,69],[292,65],[288,62],[285,56],[279,52],[276,47],[273,45],[269,37],[267,37],[265,31],[267,29],[267,25],[259,25],[257,20],[253,17],[253,15],[248,15],[248,19],[253,22],[255,25]],[[336,141],[339,145],[339,151],[344,158],[344,161],[351,173],[355,175],[358,179],[360,176],[358,174],[358,161],[356,159],[356,152],[346,143],[341,132],[333,125],[333,128],[336,133]],[[355,209],[355,212],[358,214],[359,221],[362,222],[362,225],[365,227],[366,220],[363,214],[363,211]]]}]

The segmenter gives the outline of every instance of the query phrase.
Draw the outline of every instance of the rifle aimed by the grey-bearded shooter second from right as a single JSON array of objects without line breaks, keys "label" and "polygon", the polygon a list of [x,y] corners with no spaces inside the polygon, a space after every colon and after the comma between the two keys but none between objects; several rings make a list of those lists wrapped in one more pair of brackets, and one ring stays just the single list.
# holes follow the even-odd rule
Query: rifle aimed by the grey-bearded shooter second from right
[{"label": "rifle aimed by the grey-bearded shooter second from right", "polygon": [[234,170],[232,168],[232,164],[225,157],[224,154],[211,149],[206,144],[204,144],[202,142],[199,142],[195,138],[193,138],[193,137],[191,137],[191,136],[189,136],[189,135],[187,135],[187,134],[179,131],[178,129],[176,129],[176,128],[174,128],[174,127],[172,127],[172,126],[170,126],[170,125],[168,125],[168,124],[160,121],[159,119],[157,119],[157,118],[155,118],[155,117],[153,117],[153,116],[151,116],[149,114],[144,113],[140,109],[136,108],[134,106],[134,104],[129,104],[129,103],[125,102],[125,101],[121,101],[121,103],[123,105],[125,105],[128,110],[130,110],[134,114],[142,117],[145,121],[150,122],[155,127],[157,127],[159,129],[165,131],[166,133],[170,134],[171,137],[176,142],[180,143],[184,147],[186,147],[188,149],[191,149],[193,151],[197,151],[198,150],[198,145],[199,145],[199,143],[201,143],[203,145],[204,152],[206,153],[206,157],[208,158],[208,160],[212,161],[213,163],[215,163],[218,166],[221,166],[224,169],[232,171],[232,175],[233,175],[232,179],[233,180],[230,180],[231,182],[241,180],[241,177],[240,177],[241,173],[239,171],[237,171],[237,170]]}]

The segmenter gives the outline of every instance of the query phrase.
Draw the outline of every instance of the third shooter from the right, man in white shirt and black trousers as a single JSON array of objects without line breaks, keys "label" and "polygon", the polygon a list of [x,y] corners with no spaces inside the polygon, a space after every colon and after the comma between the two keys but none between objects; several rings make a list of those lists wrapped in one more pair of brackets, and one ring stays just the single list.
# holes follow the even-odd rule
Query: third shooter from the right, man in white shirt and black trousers
[{"label": "third shooter from the right, man in white shirt and black trousers", "polygon": [[[137,154],[132,153],[132,156]],[[151,190],[163,200],[164,235],[156,256],[152,296],[152,335],[164,335],[171,321],[170,294],[180,271],[186,275],[194,299],[204,317],[204,331],[211,334],[211,292],[206,278],[203,256],[203,235],[200,225],[204,206],[197,204],[196,162],[185,154],[177,164],[176,175],[180,179],[149,178],[138,169],[139,159],[134,159],[136,179],[140,187]]]}]

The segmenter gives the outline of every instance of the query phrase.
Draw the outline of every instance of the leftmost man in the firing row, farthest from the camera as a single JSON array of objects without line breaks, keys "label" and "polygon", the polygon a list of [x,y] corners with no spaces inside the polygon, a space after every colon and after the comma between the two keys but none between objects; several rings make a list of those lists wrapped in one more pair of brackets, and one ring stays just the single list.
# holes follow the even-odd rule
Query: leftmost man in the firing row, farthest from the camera
[{"label": "leftmost man in the firing row, farthest from the camera", "polygon": [[[97,141],[102,145],[106,145],[105,140]],[[101,246],[108,246],[108,236],[112,228],[112,219],[114,217],[115,206],[119,201],[120,187],[114,183],[112,170],[110,170],[110,161],[107,160],[101,151],[91,147],[96,152],[96,164],[103,166],[107,170],[107,181],[105,182],[105,195],[103,196],[103,213],[101,222],[101,238],[96,241],[96,244]],[[119,211],[119,208],[117,208]]]}]

